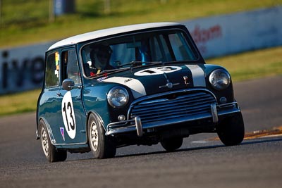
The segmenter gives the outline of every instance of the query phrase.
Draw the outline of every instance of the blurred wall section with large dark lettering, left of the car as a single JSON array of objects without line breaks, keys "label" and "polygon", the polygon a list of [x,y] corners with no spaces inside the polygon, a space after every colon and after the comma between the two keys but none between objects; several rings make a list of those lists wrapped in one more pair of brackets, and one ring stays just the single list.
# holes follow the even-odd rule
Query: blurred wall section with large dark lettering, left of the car
[{"label": "blurred wall section with large dark lettering, left of the car", "polygon": [[53,43],[0,49],[0,94],[42,87],[45,51]]}]

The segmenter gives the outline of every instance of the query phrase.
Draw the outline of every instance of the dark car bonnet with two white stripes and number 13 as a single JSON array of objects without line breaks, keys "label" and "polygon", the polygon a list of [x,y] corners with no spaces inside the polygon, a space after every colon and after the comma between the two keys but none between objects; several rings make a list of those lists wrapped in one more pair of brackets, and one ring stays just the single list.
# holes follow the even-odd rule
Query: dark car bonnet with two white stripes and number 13
[{"label": "dark car bonnet with two white stripes and number 13", "polygon": [[130,88],[134,98],[137,99],[174,89],[206,87],[204,69],[204,64],[159,65],[128,70],[127,73],[109,75],[98,81],[123,84]]}]

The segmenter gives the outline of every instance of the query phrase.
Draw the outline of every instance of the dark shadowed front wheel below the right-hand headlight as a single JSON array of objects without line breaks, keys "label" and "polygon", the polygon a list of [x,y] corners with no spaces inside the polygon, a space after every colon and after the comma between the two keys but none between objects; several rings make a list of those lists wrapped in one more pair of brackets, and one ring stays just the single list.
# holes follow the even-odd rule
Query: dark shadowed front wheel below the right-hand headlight
[{"label": "dark shadowed front wheel below the right-hand headlight", "polygon": [[226,118],[216,128],[219,139],[226,146],[240,144],[245,136],[245,127],[241,113]]}]

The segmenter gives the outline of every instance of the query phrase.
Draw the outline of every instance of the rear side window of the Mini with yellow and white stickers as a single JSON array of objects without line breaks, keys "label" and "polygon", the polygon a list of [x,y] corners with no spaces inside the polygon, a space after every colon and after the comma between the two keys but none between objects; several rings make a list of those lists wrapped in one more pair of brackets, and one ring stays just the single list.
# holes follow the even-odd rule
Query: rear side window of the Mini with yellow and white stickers
[{"label": "rear side window of the Mini with yellow and white stickers", "polygon": [[47,56],[45,87],[59,86],[59,52],[52,52]]}]

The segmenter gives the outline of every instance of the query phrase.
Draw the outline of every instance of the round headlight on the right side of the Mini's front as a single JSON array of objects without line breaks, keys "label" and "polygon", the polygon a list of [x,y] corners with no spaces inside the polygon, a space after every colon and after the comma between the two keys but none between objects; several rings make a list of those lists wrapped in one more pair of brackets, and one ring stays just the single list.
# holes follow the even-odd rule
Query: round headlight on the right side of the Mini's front
[{"label": "round headlight on the right side of the Mini's front", "polygon": [[229,86],[231,78],[226,70],[216,69],[211,73],[211,75],[209,75],[209,82],[212,84],[214,89],[222,90]]}]

